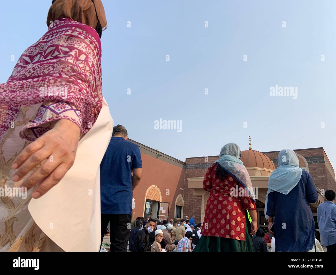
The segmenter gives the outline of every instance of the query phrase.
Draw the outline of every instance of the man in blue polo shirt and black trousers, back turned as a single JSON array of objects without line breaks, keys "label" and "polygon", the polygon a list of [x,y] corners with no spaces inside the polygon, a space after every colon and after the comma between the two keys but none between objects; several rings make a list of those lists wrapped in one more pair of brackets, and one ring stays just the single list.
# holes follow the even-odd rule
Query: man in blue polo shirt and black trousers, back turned
[{"label": "man in blue polo shirt and black trousers, back turned", "polygon": [[126,251],[131,223],[133,189],[142,176],[139,146],[128,141],[125,127],[113,127],[100,163],[101,242],[110,223],[110,249]]}]

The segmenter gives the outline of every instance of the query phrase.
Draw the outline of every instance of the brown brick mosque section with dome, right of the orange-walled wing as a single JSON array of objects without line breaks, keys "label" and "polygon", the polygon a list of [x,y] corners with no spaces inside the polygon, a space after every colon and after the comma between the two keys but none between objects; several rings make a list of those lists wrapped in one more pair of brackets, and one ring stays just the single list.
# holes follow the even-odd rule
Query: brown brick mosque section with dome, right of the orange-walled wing
[{"label": "brown brick mosque section with dome, right of the orange-walled wing", "polygon": [[[259,152],[252,150],[251,140],[248,150],[241,152],[241,161],[248,171],[253,188],[256,188],[256,207],[258,214],[258,227],[268,227],[264,216],[267,183],[270,174],[278,167],[278,153],[280,151]],[[323,190],[336,190],[335,171],[322,147],[294,150],[298,159],[299,167],[306,170],[312,176],[318,190],[318,201],[310,204],[314,220],[316,221],[317,208],[324,201]],[[219,156],[186,158],[185,181],[184,181],[184,213],[188,216],[195,215],[197,222],[202,222],[205,214],[205,204],[209,192],[203,189],[203,179],[207,169]],[[316,228],[318,224],[316,222]]]}]

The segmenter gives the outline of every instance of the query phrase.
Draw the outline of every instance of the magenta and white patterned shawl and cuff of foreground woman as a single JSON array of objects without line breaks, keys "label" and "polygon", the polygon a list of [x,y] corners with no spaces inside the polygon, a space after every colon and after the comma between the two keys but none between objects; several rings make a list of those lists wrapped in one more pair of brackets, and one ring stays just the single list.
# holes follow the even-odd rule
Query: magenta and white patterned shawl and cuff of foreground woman
[{"label": "magenta and white patterned shawl and cuff of foreground woman", "polygon": [[1,107],[0,137],[15,120],[19,107],[39,103],[43,104],[36,116],[20,133],[24,139],[35,140],[61,118],[75,122],[81,133],[87,133],[103,102],[100,49],[99,36],[90,26],[68,18],[55,20],[47,33],[23,52],[8,81],[0,84],[0,104],[8,106]]}]

